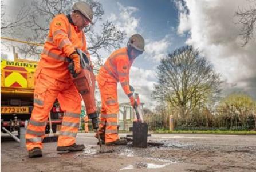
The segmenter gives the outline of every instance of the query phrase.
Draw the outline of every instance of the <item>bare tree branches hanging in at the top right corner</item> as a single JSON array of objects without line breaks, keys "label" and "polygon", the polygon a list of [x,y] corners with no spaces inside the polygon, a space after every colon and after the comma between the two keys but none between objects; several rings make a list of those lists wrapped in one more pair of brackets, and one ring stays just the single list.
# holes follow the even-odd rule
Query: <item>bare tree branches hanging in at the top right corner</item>
[{"label": "bare tree branches hanging in at the top right corner", "polygon": [[245,46],[251,39],[254,39],[255,21],[256,21],[256,2],[251,5],[250,9],[238,9],[235,16],[239,18],[237,23],[242,24],[241,39],[242,46]]}]

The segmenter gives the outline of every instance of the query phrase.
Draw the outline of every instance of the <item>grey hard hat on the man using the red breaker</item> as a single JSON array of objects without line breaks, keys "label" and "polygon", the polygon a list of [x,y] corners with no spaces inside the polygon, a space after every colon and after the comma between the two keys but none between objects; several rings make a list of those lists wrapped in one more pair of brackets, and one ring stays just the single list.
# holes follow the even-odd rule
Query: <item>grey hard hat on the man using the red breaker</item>
[{"label": "grey hard hat on the man using the red breaker", "polygon": [[73,10],[80,11],[86,18],[89,19],[90,22],[92,22],[92,18],[93,18],[92,8],[88,3],[81,2],[81,1],[76,2],[73,5]]}]

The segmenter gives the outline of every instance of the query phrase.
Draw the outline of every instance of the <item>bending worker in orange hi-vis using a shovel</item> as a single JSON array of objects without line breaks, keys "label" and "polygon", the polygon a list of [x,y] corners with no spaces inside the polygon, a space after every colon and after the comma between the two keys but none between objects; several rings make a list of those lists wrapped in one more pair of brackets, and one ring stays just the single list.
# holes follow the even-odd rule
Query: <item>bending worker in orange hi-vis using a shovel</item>
[{"label": "bending worker in orange hi-vis using a shovel", "polygon": [[129,38],[127,47],[114,51],[101,66],[97,82],[101,94],[100,138],[105,145],[125,145],[126,139],[120,139],[117,133],[117,82],[120,82],[131,105],[136,106],[129,85],[129,70],[135,58],[144,51],[144,39],[139,34]]}]

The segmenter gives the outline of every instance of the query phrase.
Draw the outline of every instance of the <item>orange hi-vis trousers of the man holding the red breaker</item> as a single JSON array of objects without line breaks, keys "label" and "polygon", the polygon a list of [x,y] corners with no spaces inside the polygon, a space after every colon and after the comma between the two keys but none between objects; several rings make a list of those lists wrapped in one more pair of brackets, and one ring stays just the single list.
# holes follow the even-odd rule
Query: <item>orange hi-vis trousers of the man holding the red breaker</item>
[{"label": "orange hi-vis trousers of the man holding the red breaker", "polygon": [[70,146],[76,142],[80,122],[81,96],[72,79],[59,81],[39,72],[35,76],[34,109],[26,132],[26,147],[42,149],[45,126],[56,98],[64,111],[58,146]]}]

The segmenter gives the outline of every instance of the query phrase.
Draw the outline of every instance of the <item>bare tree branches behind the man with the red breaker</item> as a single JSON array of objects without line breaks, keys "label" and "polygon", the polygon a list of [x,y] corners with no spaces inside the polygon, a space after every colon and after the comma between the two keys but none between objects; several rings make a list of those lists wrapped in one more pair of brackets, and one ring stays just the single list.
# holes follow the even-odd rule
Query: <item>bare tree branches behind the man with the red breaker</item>
[{"label": "bare tree branches behind the man with the red breaker", "polygon": [[[125,33],[117,29],[111,21],[102,22],[104,10],[100,2],[97,0],[86,0],[86,2],[92,6],[93,22],[100,27],[97,31],[94,28],[96,25],[90,25],[85,28],[84,32],[86,33],[88,50],[91,55],[96,55],[98,59],[97,65],[101,65],[102,61],[99,50],[104,49],[110,51],[117,49],[123,43]],[[30,15],[27,17],[29,23],[26,23],[25,30],[19,30],[18,33],[26,35],[26,41],[44,43],[48,35],[50,21],[57,14],[69,14],[72,6],[72,0],[34,0],[31,2]],[[40,54],[41,49],[41,47],[33,45],[19,47],[19,51],[28,57],[34,54]]]}]

